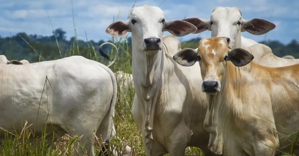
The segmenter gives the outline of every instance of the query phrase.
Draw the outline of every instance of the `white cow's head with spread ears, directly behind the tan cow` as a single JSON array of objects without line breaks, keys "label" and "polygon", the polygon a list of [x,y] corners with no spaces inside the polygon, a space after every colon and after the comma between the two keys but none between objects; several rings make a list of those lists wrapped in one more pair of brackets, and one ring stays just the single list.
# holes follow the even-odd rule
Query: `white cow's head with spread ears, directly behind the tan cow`
[{"label": "white cow's head with spread ears, directly behind the tan cow", "polygon": [[211,37],[226,38],[230,48],[241,45],[241,32],[263,35],[276,27],[275,24],[259,18],[242,19],[242,12],[237,7],[216,7],[209,20],[194,17],[183,20],[197,27],[195,33],[210,30]]}]

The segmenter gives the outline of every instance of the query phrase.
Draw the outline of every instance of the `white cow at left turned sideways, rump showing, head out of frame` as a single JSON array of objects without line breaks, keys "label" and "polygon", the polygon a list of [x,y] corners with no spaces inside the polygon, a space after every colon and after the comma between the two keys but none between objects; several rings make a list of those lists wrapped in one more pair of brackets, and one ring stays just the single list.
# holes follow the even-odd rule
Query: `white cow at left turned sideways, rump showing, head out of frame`
[{"label": "white cow at left turned sideways, rump showing, head out of frame", "polygon": [[[0,73],[0,81],[5,82],[0,83],[2,129],[20,132],[28,121],[33,123],[30,128],[35,129],[36,136],[44,132],[45,126],[47,133],[55,132],[55,140],[65,133],[83,135],[80,143],[85,143],[84,150],[91,156],[94,133],[109,143],[110,132],[115,131],[112,117],[117,84],[115,75],[105,65],[71,56],[26,66],[0,64]],[[52,136],[46,138],[49,143]],[[2,140],[4,131],[0,131]],[[129,150],[127,146],[128,155]]]}]

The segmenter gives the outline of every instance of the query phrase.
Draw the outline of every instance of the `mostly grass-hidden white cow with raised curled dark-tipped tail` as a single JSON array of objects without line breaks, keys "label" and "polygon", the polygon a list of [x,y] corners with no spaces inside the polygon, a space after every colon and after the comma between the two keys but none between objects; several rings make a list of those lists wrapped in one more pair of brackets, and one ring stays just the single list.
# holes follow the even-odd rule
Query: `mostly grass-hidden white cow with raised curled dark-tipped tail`
[{"label": "mostly grass-hidden white cow with raised curled dark-tipped tail", "polygon": [[[105,54],[104,51],[102,50],[102,47],[105,44],[110,44],[113,47],[115,47],[115,49],[116,49],[115,58],[112,62],[109,61],[110,60],[109,56],[107,54]],[[100,55],[102,55],[104,58],[106,58],[109,61],[109,65],[107,67],[110,68],[110,67],[112,67],[113,64],[116,63],[116,61],[118,59],[118,48],[116,47],[115,44],[110,43],[110,42],[105,42],[100,45],[99,52],[100,52]],[[114,74],[116,76],[116,80],[118,81],[118,86],[121,91],[118,95],[123,95],[123,96],[120,96],[121,97],[120,104],[124,104],[123,106],[126,107],[126,106],[128,106],[128,104],[126,104],[126,100],[124,98],[126,98],[130,95],[130,90],[131,90],[130,87],[133,87],[133,85],[134,85],[133,76],[132,76],[132,74],[125,73],[123,71],[117,71]],[[122,110],[124,110],[124,109],[122,109]]]}]

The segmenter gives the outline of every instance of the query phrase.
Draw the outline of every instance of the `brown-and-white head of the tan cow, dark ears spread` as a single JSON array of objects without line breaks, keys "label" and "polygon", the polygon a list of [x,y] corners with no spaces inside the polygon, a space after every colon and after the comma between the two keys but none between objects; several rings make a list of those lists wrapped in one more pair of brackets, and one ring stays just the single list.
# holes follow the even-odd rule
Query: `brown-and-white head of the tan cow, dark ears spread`
[{"label": "brown-and-white head of the tan cow, dark ears spread", "polygon": [[230,50],[225,38],[204,38],[199,42],[198,50],[191,48],[177,52],[173,59],[182,66],[192,66],[199,61],[202,79],[202,91],[215,95],[221,90],[222,77],[227,61],[242,67],[252,61],[254,56],[242,48]]}]

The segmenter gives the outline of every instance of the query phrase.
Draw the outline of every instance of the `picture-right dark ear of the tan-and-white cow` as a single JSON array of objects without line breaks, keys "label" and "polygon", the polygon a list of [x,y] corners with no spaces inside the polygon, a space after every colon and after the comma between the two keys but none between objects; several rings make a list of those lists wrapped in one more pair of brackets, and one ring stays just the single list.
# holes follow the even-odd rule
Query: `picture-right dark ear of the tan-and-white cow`
[{"label": "picture-right dark ear of the tan-and-white cow", "polygon": [[237,67],[245,66],[253,59],[254,56],[242,48],[234,48],[228,52],[228,61],[231,61]]}]

